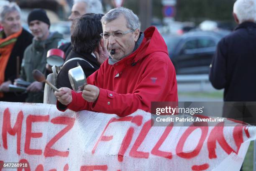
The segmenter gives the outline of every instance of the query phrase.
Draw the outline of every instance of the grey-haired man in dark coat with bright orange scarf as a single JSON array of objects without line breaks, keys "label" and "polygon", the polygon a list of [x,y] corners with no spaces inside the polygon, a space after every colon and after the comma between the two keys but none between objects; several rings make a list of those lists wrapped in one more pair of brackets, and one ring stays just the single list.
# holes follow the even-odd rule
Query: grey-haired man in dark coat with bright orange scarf
[{"label": "grey-haired man in dark coat with bright orange scarf", "polygon": [[[9,92],[9,85],[18,77],[23,53],[33,36],[20,25],[20,8],[14,2],[0,8],[0,101],[25,102],[26,95]],[[19,68],[18,68],[19,69]],[[17,74],[18,73],[18,74]]]}]

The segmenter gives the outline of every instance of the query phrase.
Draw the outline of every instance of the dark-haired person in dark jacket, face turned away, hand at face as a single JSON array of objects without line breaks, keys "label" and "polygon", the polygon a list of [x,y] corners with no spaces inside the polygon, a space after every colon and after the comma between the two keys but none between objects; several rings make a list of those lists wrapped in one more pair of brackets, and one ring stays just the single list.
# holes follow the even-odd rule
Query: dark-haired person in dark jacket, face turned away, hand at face
[{"label": "dark-haired person in dark jacket, face turned away, hand at face", "polygon": [[[93,52],[98,48],[99,44],[103,44],[100,33],[102,33],[101,18],[103,14],[87,13],[74,20],[74,27],[71,35],[72,50],[67,60],[61,68],[57,77],[57,87],[69,87],[72,89],[68,78],[69,69],[77,67],[77,62],[84,70],[86,77],[99,69],[100,64]],[[101,43],[100,43],[101,42]],[[104,45],[102,45],[104,48]],[[105,49],[106,53],[107,50]],[[70,60],[72,58],[82,58]],[[106,54],[108,57],[108,53]],[[70,61],[68,61],[70,60]]]}]

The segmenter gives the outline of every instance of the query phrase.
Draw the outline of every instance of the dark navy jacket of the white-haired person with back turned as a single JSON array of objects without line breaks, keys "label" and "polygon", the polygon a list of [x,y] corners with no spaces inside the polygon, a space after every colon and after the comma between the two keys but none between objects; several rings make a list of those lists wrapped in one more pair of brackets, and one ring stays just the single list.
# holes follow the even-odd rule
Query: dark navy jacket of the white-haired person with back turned
[{"label": "dark navy jacket of the white-haired person with back turned", "polygon": [[218,43],[210,82],[224,101],[256,101],[256,23],[243,22]]}]

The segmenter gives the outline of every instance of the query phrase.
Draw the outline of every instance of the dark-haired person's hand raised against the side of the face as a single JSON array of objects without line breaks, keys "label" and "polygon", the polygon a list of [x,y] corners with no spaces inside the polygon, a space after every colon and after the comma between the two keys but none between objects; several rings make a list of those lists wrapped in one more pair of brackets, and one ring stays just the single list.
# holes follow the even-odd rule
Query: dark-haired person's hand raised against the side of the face
[{"label": "dark-haired person's hand raised against the side of the face", "polygon": [[104,40],[101,39],[99,46],[96,47],[96,50],[93,52],[96,56],[97,62],[101,65],[109,57],[108,50],[104,44]]}]

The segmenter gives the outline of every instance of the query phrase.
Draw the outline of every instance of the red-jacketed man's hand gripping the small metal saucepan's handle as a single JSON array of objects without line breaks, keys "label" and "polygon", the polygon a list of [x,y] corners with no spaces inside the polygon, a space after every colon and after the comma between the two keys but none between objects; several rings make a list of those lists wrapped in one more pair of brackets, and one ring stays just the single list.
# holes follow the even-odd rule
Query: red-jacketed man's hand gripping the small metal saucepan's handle
[{"label": "red-jacketed man's hand gripping the small metal saucepan's handle", "polygon": [[100,89],[94,85],[87,84],[84,86],[84,90],[82,92],[82,97],[87,102],[95,102],[100,94]]}]

